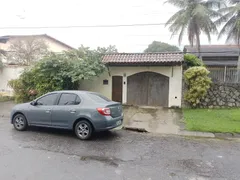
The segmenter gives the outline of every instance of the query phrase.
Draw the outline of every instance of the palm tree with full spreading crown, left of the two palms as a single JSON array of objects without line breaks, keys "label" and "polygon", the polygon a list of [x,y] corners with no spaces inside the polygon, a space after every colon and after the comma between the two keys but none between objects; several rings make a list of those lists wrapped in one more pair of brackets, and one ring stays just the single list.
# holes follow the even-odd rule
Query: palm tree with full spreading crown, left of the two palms
[{"label": "palm tree with full spreading crown, left of the two palms", "polygon": [[179,34],[178,42],[181,44],[183,35],[187,31],[188,40],[191,46],[196,45],[198,55],[201,57],[200,34],[207,35],[209,42],[211,34],[217,33],[217,26],[212,18],[221,16],[215,7],[219,7],[222,0],[167,0],[166,2],[179,8],[166,23],[172,36]]}]

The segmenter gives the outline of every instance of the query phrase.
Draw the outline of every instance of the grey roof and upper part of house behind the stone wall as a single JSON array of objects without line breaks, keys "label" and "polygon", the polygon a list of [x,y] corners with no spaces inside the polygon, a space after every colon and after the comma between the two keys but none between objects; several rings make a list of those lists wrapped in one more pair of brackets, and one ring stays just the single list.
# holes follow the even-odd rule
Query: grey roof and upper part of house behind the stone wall
[{"label": "grey roof and upper part of house behind the stone wall", "polygon": [[[185,46],[184,53],[195,54],[195,46]],[[208,67],[237,67],[240,47],[237,45],[201,45],[201,56]]]}]

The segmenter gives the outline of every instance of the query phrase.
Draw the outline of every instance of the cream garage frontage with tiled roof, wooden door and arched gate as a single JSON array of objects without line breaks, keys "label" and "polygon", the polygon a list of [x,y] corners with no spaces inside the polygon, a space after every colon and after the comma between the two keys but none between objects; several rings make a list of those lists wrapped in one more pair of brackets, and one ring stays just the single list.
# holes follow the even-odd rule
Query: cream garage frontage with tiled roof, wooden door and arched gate
[{"label": "cream garage frontage with tiled roof, wooden door and arched gate", "polygon": [[81,90],[123,104],[181,107],[182,53],[116,53],[105,55],[103,62],[108,72],[84,80]]}]

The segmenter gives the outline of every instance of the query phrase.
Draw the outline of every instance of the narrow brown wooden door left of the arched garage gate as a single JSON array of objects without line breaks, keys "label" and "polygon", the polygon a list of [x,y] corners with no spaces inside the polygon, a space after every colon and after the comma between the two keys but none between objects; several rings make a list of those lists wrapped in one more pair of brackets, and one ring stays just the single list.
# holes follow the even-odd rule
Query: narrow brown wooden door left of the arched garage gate
[{"label": "narrow brown wooden door left of the arched garage gate", "polygon": [[122,102],[122,76],[112,77],[112,100],[116,102]]}]

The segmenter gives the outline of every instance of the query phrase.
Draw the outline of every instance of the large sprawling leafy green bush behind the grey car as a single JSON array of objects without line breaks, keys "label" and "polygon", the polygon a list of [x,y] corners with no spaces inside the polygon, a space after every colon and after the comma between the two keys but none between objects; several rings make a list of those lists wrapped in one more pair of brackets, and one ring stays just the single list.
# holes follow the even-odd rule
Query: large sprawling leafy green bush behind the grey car
[{"label": "large sprawling leafy green bush behind the grey car", "polygon": [[19,79],[9,81],[15,101],[26,102],[47,92],[78,89],[82,79],[98,76],[105,70],[102,54],[80,48],[63,54],[50,54],[26,69]]}]

